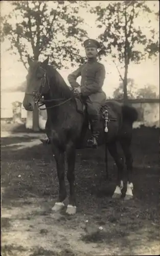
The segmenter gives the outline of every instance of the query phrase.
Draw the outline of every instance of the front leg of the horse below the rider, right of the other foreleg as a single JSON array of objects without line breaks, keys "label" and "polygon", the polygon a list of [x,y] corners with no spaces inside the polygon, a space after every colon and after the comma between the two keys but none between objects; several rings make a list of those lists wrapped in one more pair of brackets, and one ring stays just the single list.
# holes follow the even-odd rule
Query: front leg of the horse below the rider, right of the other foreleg
[{"label": "front leg of the horse below the rider, right of the other foreleg", "polygon": [[76,149],[74,143],[68,143],[66,148],[67,157],[67,180],[70,183],[70,197],[69,204],[66,209],[66,213],[69,215],[76,214],[76,197],[75,197],[75,161],[76,161]]}]

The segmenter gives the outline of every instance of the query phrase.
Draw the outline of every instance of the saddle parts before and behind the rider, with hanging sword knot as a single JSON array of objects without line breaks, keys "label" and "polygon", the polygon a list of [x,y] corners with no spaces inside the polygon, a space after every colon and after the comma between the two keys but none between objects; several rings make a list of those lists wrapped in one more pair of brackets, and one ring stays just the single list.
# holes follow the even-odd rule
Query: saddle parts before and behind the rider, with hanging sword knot
[{"label": "saddle parts before and behind the rider, with hanging sword knot", "polygon": [[[81,98],[75,98],[76,99],[76,106],[77,106],[77,112],[80,114],[85,115],[86,113],[86,104]],[[108,132],[108,122],[110,121],[116,121],[117,117],[115,113],[112,111],[110,106],[107,105],[107,101],[101,106],[100,109],[100,120],[104,122],[105,125],[105,132]]]}]

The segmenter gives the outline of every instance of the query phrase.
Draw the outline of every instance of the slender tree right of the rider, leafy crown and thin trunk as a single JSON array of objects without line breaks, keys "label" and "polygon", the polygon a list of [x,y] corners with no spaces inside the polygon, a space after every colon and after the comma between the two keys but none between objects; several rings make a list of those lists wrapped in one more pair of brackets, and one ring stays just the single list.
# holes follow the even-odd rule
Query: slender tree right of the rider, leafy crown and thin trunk
[{"label": "slender tree right of the rider, leafy crown and thin trunk", "polygon": [[147,1],[108,1],[105,7],[96,6],[90,10],[97,14],[97,26],[102,31],[99,36],[103,44],[101,53],[111,54],[123,65],[124,73],[119,71],[119,74],[123,81],[124,100],[127,100],[130,63],[139,63],[159,52],[158,12],[150,5]]}]

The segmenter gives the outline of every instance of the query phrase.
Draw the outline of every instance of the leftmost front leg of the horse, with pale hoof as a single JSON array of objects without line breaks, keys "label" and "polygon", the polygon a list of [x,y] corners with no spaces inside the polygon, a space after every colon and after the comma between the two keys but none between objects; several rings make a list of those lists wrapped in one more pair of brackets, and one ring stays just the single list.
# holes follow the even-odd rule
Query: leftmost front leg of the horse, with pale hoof
[{"label": "leftmost front leg of the horse, with pale hoof", "polygon": [[52,145],[52,151],[56,160],[56,166],[57,166],[57,176],[59,180],[59,195],[57,202],[55,203],[52,210],[59,211],[64,207],[64,199],[66,198],[66,188],[65,188],[65,158],[64,158],[64,152],[61,152],[57,147],[53,147]]}]

